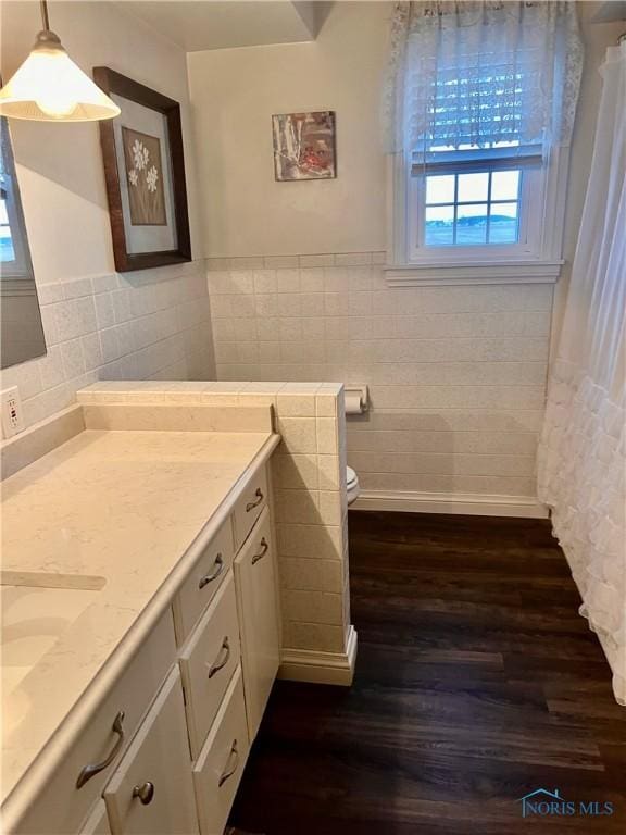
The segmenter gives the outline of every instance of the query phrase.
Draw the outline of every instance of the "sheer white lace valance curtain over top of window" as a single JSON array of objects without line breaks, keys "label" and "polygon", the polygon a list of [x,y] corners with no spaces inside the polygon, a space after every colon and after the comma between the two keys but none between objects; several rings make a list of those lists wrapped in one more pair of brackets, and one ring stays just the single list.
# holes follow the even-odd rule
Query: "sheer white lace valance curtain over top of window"
[{"label": "sheer white lace valance curtain over top of window", "polygon": [[401,2],[385,89],[389,152],[566,145],[583,45],[573,2]]}]

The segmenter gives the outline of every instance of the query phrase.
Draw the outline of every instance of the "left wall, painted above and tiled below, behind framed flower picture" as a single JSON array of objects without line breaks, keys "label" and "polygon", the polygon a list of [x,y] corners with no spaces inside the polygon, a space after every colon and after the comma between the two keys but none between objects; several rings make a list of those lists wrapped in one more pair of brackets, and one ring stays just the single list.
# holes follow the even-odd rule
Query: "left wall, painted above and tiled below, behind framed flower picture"
[{"label": "left wall, painted above and tiled below, behind framed flower picture", "polygon": [[[39,3],[2,2],[2,74],[27,55]],[[202,258],[185,53],[117,3],[52,2],[50,23],[79,66],[110,66],[180,101],[192,246]],[[209,377],[213,371],[203,262],[118,275],[98,125],[11,121],[48,357],[5,370],[27,423],[98,377]]]}]

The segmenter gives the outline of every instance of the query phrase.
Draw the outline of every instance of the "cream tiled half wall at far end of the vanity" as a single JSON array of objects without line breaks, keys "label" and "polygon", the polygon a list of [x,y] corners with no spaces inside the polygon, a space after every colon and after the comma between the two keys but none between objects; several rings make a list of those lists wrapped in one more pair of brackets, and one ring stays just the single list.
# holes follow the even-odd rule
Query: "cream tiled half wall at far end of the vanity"
[{"label": "cream tiled half wall at far end of the vanity", "polygon": [[[272,458],[279,561],[284,660],[351,676],[346,422],[343,390],[325,383],[104,382],[78,402],[274,407],[281,444]],[[300,671],[300,672],[298,672]]]}]

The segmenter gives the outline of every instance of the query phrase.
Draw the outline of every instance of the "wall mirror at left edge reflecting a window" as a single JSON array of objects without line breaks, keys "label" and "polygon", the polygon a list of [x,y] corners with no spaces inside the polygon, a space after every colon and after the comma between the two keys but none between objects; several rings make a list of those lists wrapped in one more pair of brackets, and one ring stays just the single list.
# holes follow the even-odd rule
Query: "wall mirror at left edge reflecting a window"
[{"label": "wall mirror at left edge reflecting a window", "polygon": [[11,136],[0,119],[0,367],[46,353]]}]

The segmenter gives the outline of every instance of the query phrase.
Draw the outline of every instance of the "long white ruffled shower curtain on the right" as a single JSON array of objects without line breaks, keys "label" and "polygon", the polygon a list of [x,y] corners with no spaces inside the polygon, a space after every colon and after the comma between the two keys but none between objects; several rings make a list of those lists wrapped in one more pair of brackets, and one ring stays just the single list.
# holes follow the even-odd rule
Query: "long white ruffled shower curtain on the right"
[{"label": "long white ruffled shower curtain on the right", "polygon": [[626,45],[611,47],[539,449],[583,606],[626,705]]}]

